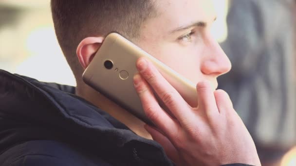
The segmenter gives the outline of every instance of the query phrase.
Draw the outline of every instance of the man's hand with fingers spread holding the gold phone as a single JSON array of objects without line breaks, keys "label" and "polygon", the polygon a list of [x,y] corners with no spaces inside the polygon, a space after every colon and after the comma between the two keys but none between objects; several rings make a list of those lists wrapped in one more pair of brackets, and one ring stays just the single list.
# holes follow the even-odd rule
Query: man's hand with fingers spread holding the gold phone
[{"label": "man's hand with fingers spread holding the gold phone", "polygon": [[[198,83],[198,108],[192,108],[150,62],[141,58],[137,67],[134,86],[157,127],[146,129],[178,166],[260,165],[253,139],[226,92]],[[151,88],[174,117],[160,107]]]}]

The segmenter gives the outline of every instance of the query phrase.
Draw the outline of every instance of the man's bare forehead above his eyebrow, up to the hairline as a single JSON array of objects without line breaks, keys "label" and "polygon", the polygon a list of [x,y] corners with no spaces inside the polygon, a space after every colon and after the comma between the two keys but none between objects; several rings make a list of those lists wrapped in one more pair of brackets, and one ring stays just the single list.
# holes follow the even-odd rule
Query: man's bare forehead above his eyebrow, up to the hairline
[{"label": "man's bare forehead above his eyebrow, up to the hairline", "polygon": [[212,0],[155,0],[157,16],[148,19],[142,34],[164,37],[174,28],[198,21],[213,22],[216,17]]}]

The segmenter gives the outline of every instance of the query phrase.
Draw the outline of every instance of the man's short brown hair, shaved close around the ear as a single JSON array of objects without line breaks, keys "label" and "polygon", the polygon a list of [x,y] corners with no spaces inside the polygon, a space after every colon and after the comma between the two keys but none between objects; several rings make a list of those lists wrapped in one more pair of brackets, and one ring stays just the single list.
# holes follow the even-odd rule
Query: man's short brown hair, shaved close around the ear
[{"label": "man's short brown hair, shaved close around the ear", "polygon": [[89,36],[121,33],[138,39],[142,23],[155,16],[152,0],[51,0],[57,40],[76,81],[83,73],[76,48]]}]

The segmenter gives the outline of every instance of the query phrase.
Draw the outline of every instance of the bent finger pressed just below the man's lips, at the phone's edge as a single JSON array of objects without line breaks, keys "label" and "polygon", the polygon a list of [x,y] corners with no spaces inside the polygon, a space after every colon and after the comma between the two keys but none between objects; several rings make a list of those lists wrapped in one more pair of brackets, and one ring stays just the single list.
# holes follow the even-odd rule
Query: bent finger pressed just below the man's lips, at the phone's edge
[{"label": "bent finger pressed just below the man's lips, at the phone's edge", "polygon": [[207,115],[215,115],[219,113],[214,90],[209,82],[200,82],[196,86],[198,95],[198,108],[203,110]]}]

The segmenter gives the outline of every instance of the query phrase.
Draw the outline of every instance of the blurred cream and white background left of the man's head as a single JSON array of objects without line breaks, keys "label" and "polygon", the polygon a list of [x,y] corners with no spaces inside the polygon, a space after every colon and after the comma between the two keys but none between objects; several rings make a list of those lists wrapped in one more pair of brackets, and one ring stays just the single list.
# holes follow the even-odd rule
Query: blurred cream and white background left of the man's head
[{"label": "blurred cream and white background left of the man's head", "polygon": [[0,68],[75,85],[57,43],[50,0],[0,0]]}]

